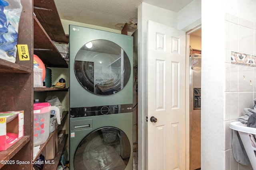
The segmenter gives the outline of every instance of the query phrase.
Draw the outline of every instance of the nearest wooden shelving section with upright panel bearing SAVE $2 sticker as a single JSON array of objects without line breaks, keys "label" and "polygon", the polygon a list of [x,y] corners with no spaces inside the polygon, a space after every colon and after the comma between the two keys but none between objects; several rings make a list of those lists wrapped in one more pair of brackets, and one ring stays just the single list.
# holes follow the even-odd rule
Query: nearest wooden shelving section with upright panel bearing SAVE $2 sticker
[{"label": "nearest wooden shelving section with upright panel bearing SAVE $2 sticker", "polygon": [[[22,13],[18,29],[18,44],[28,45],[29,60],[16,62],[0,59],[0,111],[24,110],[24,137],[4,151],[1,160],[31,161],[33,158],[33,8],[31,0],[21,0]],[[31,170],[32,164],[0,164],[1,170]]]}]

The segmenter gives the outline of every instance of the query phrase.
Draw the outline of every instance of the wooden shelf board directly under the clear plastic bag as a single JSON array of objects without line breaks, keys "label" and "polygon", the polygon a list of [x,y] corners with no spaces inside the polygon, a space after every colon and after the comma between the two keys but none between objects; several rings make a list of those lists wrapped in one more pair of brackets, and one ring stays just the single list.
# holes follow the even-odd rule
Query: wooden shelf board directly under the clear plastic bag
[{"label": "wooden shelf board directly under the clear plastic bag", "polygon": [[32,73],[32,68],[0,59],[0,72]]}]

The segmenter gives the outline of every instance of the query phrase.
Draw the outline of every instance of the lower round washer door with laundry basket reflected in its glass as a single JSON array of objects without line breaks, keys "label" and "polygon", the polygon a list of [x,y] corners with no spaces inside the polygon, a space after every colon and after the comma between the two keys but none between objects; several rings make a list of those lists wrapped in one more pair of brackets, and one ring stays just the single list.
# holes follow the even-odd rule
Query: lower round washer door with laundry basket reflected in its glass
[{"label": "lower round washer door with laundry basket reflected in its glass", "polygon": [[130,154],[126,134],[114,127],[104,127],[87,135],[78,145],[74,170],[124,170]]}]

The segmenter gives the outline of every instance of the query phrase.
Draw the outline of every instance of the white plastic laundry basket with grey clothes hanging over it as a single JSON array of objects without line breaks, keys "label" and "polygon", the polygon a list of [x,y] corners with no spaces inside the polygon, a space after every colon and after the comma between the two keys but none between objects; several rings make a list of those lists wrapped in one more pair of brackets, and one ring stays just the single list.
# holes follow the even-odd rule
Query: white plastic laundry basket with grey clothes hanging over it
[{"label": "white plastic laundry basket with grey clothes hanging over it", "polygon": [[256,156],[255,156],[256,148],[252,146],[250,137],[248,135],[248,134],[256,135],[256,128],[246,127],[239,121],[231,122],[230,128],[235,131],[238,131],[240,138],[242,140],[242,143],[244,145],[244,149],[252,165],[252,168],[256,170]]}]

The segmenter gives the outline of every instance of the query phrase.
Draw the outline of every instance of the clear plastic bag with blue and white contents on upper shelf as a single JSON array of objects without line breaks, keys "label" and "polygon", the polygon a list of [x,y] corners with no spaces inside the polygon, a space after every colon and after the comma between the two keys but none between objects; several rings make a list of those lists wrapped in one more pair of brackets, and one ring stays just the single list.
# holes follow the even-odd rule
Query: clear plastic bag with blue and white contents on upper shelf
[{"label": "clear plastic bag with blue and white contents on upper shelf", "polygon": [[20,0],[0,0],[0,58],[12,63],[16,61],[21,12]]}]

